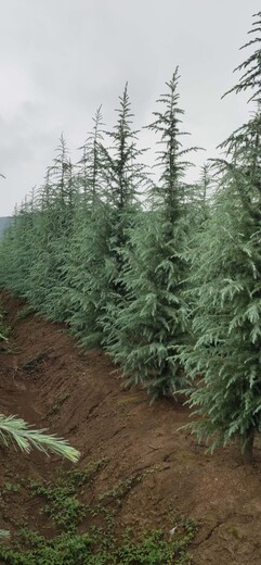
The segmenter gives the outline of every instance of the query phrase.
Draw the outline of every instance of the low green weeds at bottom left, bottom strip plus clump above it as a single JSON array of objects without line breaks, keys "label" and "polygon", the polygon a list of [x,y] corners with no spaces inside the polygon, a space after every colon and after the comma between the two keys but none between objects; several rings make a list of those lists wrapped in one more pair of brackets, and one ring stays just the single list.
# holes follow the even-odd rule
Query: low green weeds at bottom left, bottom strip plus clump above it
[{"label": "low green weeds at bottom left, bottom strip plus clump above it", "polygon": [[[6,565],[188,565],[187,547],[196,525],[174,517],[175,531],[136,532],[126,528],[116,535],[119,501],[142,476],[130,477],[95,499],[93,486],[107,460],[91,462],[84,469],[61,472],[55,481],[31,482],[34,497],[42,499],[40,512],[58,528],[53,539],[22,528],[0,543],[0,560]],[[11,485],[11,484],[10,484]],[[13,485],[6,490],[13,492]],[[15,489],[16,490],[16,489]],[[91,504],[84,497],[91,495]],[[19,495],[19,489],[16,492]],[[105,505],[104,505],[105,504]],[[109,504],[109,508],[107,507]],[[37,516],[35,516],[37,522]],[[118,530],[117,530],[118,531]]]}]

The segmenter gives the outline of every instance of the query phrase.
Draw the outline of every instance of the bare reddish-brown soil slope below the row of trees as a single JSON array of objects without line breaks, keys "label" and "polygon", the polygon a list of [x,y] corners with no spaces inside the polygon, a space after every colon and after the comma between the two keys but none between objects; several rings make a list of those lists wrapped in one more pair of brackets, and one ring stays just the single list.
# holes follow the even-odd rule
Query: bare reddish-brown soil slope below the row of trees
[{"label": "bare reddish-brown soil slope below the row of trees", "polygon": [[[4,297],[10,319],[21,302]],[[108,457],[95,489],[108,490],[143,470],[144,478],[125,498],[119,527],[173,527],[173,512],[194,518],[198,533],[191,548],[194,565],[261,564],[261,455],[244,465],[236,447],[206,455],[180,427],[186,407],[166,401],[149,405],[146,392],[126,390],[101,351],[81,353],[61,325],[29,316],[15,325],[16,354],[1,355],[4,414],[18,414],[38,427],[66,437],[81,452],[80,467]],[[38,452],[1,453],[0,485],[10,478],[48,477],[69,467]],[[25,493],[1,504],[0,528],[35,523],[36,502]],[[49,526],[50,527],[50,526]],[[47,533],[47,531],[44,531]]]}]

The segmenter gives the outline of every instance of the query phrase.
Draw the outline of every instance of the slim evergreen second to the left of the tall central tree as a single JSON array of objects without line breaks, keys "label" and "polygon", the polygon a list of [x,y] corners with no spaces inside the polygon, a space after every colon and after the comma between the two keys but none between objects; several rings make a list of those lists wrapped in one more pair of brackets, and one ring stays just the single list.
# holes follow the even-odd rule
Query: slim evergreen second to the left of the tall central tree
[{"label": "slim evergreen second to the left of the tall central tree", "polygon": [[108,254],[109,230],[102,126],[100,108],[93,128],[80,148],[82,156],[77,175],[80,193],[64,266],[66,321],[84,347],[96,346],[102,340],[97,317],[105,286],[104,258]]}]

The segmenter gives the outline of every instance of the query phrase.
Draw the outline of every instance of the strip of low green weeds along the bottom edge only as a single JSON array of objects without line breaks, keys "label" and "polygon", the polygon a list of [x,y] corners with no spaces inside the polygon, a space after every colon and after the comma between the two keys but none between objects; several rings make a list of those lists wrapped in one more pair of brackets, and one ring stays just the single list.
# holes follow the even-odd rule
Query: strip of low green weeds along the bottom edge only
[{"label": "strip of low green weeds along the bottom edge only", "polygon": [[131,530],[115,539],[102,529],[88,533],[61,533],[53,540],[30,530],[21,530],[14,549],[0,543],[0,557],[9,565],[188,565],[187,545],[195,536],[195,524],[183,520],[177,539],[167,541],[164,532]]}]

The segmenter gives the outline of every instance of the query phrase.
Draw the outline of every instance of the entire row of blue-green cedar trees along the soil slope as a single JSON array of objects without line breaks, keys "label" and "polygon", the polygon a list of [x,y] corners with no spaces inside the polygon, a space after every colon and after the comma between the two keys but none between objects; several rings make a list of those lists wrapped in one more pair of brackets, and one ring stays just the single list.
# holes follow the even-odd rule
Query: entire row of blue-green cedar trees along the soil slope
[{"label": "entire row of blue-green cedar trees along the soil slope", "polygon": [[261,12],[232,88],[249,91],[253,113],[198,184],[185,181],[197,148],[182,145],[175,71],[148,126],[159,180],[142,164],[126,87],[114,130],[99,110],[77,165],[61,137],[0,247],[3,287],[82,347],[102,346],[152,399],[185,392],[198,438],[211,449],[239,438],[246,460],[261,436],[260,30]]}]

